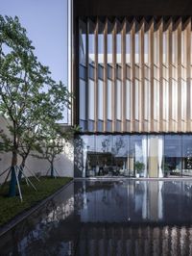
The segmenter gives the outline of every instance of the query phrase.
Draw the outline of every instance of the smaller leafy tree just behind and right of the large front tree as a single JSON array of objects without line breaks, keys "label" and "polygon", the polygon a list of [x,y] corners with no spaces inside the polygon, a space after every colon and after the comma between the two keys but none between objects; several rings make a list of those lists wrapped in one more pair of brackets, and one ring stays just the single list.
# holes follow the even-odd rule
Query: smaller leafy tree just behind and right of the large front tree
[{"label": "smaller leafy tree just behind and right of the large front tree", "polygon": [[[62,85],[60,85],[62,86]],[[58,90],[60,89],[58,86]],[[59,95],[63,95],[64,90],[60,90]],[[44,97],[46,96],[46,97]],[[47,97],[48,96],[48,97]],[[54,96],[54,97],[53,97]],[[38,150],[40,147],[41,141],[44,139],[45,130],[49,128],[49,130],[53,129],[56,126],[55,122],[60,120],[60,116],[62,113],[62,108],[57,104],[60,102],[60,105],[64,104],[63,98],[57,98],[57,103],[55,102],[56,94],[53,91],[48,91],[46,94],[41,93],[37,96],[36,106],[33,109],[33,115],[31,118],[25,118],[25,127],[23,129],[20,145],[18,148],[18,153],[22,158],[22,162],[20,165],[19,177],[21,177],[22,171],[25,167],[26,160],[30,155],[31,151]],[[42,100],[43,98],[43,100]],[[33,117],[33,118],[32,118]]]}]

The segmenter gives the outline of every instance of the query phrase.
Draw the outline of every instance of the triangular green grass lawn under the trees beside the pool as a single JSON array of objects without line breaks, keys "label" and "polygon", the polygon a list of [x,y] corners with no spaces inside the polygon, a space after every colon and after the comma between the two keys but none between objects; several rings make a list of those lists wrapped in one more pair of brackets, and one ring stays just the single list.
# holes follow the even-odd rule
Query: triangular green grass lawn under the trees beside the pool
[{"label": "triangular green grass lawn under the trees beside the pool", "polygon": [[2,189],[0,186],[0,227],[11,220],[16,215],[35,206],[37,202],[58,191],[63,185],[71,181],[71,178],[60,177],[53,179],[50,177],[40,177],[40,182],[35,178],[30,178],[36,186],[37,192],[26,185],[25,180],[21,181],[21,191],[23,202],[19,196],[8,197],[9,186],[6,184]]}]

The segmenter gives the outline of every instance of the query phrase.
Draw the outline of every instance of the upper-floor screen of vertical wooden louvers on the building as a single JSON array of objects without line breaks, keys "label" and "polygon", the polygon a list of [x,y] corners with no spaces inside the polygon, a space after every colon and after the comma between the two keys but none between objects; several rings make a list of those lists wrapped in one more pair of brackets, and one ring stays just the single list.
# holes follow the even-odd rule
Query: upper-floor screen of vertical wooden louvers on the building
[{"label": "upper-floor screen of vertical wooden louvers on the building", "polygon": [[[85,124],[84,132],[192,132],[191,17],[185,19],[181,17],[151,19],[97,17],[94,20],[87,18],[85,22],[87,23],[87,30],[84,32],[86,34],[84,49],[86,86],[84,99],[79,98],[80,111],[81,102],[85,101],[86,120],[80,120]],[[91,31],[94,37],[94,49],[91,53],[88,52],[92,50],[89,47],[88,37],[90,22],[94,24],[94,32]],[[102,32],[99,32],[100,23],[104,28]],[[103,33],[104,40],[103,69],[100,66],[103,70],[102,96],[98,86],[99,55],[101,55],[98,46],[101,38],[98,37],[99,33]],[[111,39],[108,33],[111,34]],[[129,37],[127,37],[128,34]],[[81,38],[80,42],[82,43]],[[121,46],[120,52],[117,53],[118,45]],[[149,46],[147,52],[146,45]],[[90,58],[93,58],[92,63]],[[117,67],[120,70],[119,73]],[[91,72],[94,73],[94,78],[89,77]],[[81,79],[80,76],[79,80]],[[88,99],[90,79],[94,81],[94,90],[91,90],[94,94],[94,106],[90,106],[91,102]],[[108,79],[111,81],[111,91],[108,87]],[[117,94],[121,96],[120,103],[117,102]],[[100,98],[103,100],[102,120],[98,117]],[[110,110],[108,110],[109,101],[111,101]],[[150,106],[149,110],[148,106]],[[94,119],[89,120],[91,110],[94,112]],[[130,111],[129,115],[128,111]],[[108,113],[111,114],[109,120]],[[91,131],[89,123],[94,124],[91,126],[93,127]],[[99,126],[101,123],[102,126]]]}]

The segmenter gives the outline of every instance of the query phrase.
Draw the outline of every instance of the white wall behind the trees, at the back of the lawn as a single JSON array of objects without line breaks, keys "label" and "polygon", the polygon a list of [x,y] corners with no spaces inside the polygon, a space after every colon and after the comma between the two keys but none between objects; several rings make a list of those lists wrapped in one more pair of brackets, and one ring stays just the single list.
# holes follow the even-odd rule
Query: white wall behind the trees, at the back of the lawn
[{"label": "white wall behind the trees, at the back of the lawn", "polygon": [[[6,131],[7,121],[0,116],[0,130]],[[0,174],[9,166],[11,166],[12,153],[0,153]],[[21,159],[18,158],[18,164]],[[32,156],[27,159],[26,166],[28,166],[35,173],[40,173],[40,175],[45,175],[47,169],[49,168],[49,162],[46,160],[39,160]],[[58,156],[55,162],[55,168],[58,170],[60,176],[73,177],[74,176],[74,147],[73,141],[66,142],[63,147],[63,152]],[[31,172],[26,168],[25,173],[31,176]],[[0,184],[5,180],[6,173],[0,177]]]}]

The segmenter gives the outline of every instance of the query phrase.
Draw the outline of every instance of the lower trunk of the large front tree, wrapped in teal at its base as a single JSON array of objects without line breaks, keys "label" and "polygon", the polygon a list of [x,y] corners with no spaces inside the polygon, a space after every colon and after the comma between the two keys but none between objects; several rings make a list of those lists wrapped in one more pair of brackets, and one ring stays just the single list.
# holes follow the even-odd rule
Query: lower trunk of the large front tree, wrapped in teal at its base
[{"label": "lower trunk of the large front tree, wrapped in teal at its base", "polygon": [[10,197],[16,195],[16,174],[15,174],[16,165],[17,165],[17,153],[12,152],[11,181],[10,181],[10,192],[9,192]]}]

